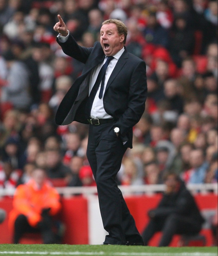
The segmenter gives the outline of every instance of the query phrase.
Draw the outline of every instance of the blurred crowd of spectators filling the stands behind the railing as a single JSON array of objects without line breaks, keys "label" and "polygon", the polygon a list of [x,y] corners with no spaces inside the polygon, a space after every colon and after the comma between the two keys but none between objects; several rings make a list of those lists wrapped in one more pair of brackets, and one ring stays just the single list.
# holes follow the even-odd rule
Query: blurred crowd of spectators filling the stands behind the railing
[{"label": "blurred crowd of spectators filling the stands behind the railing", "polygon": [[217,182],[217,1],[0,0],[0,188],[30,180],[35,166],[54,186],[93,186],[88,125],[55,124],[55,113],[83,64],[53,30],[60,14],[84,47],[102,21],[122,20],[126,48],[145,60],[148,98],[133,128],[117,182]]}]

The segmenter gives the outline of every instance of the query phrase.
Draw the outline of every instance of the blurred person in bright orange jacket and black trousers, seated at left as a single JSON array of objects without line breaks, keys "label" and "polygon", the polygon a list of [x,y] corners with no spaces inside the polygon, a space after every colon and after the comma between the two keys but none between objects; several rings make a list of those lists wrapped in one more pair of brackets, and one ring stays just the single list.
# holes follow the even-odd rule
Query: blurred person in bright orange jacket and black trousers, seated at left
[{"label": "blurred person in bright orange jacket and black trousers, seated at left", "polygon": [[46,181],[43,169],[35,169],[32,179],[19,185],[9,214],[9,227],[14,231],[14,243],[19,243],[26,232],[39,231],[44,244],[55,243],[52,216],[61,209],[60,196]]}]

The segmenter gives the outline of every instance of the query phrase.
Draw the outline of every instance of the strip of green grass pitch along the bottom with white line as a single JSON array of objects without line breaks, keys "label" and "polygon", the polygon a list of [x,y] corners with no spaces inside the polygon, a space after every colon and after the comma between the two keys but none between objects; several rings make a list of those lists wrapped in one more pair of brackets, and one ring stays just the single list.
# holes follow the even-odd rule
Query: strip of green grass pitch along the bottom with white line
[{"label": "strip of green grass pitch along the bottom with white line", "polygon": [[217,256],[217,247],[147,247],[123,245],[0,244],[0,256]]}]

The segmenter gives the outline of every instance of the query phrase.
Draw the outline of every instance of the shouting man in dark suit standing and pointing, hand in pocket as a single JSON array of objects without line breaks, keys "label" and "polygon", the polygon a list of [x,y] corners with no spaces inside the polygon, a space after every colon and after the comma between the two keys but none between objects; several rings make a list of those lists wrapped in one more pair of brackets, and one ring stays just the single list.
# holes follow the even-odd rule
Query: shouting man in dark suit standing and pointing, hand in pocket
[{"label": "shouting man in dark suit standing and pointing, hand in pocket", "polygon": [[127,28],[121,21],[102,23],[100,43],[81,47],[62,18],[54,30],[65,54],[85,63],[56,114],[56,123],[90,123],[87,157],[97,184],[104,229],[103,244],[143,245],[133,217],[116,183],[127,147],[132,148],[133,126],[144,110],[146,65],[124,47]]}]

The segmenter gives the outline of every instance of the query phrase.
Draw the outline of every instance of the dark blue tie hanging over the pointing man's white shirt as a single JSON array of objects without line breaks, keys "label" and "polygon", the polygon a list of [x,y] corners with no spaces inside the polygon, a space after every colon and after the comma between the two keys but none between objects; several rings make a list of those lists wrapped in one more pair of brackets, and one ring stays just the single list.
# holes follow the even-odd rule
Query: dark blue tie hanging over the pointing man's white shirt
[{"label": "dark blue tie hanging over the pointing man's white shirt", "polygon": [[114,58],[113,56],[108,57],[106,62],[104,63],[104,65],[101,67],[101,69],[98,73],[98,77],[96,79],[96,82],[94,83],[94,86],[92,87],[91,93],[89,94],[89,98],[88,98],[88,102],[87,102],[87,113],[88,113],[89,117],[90,117],[94,97],[95,97],[95,95],[98,91],[98,87],[99,87],[100,83],[101,83],[101,88],[100,88],[100,92],[99,92],[98,97],[99,97],[99,99],[102,98],[103,90],[104,90],[104,80],[105,80],[106,69],[107,69],[110,61],[113,58]]}]

